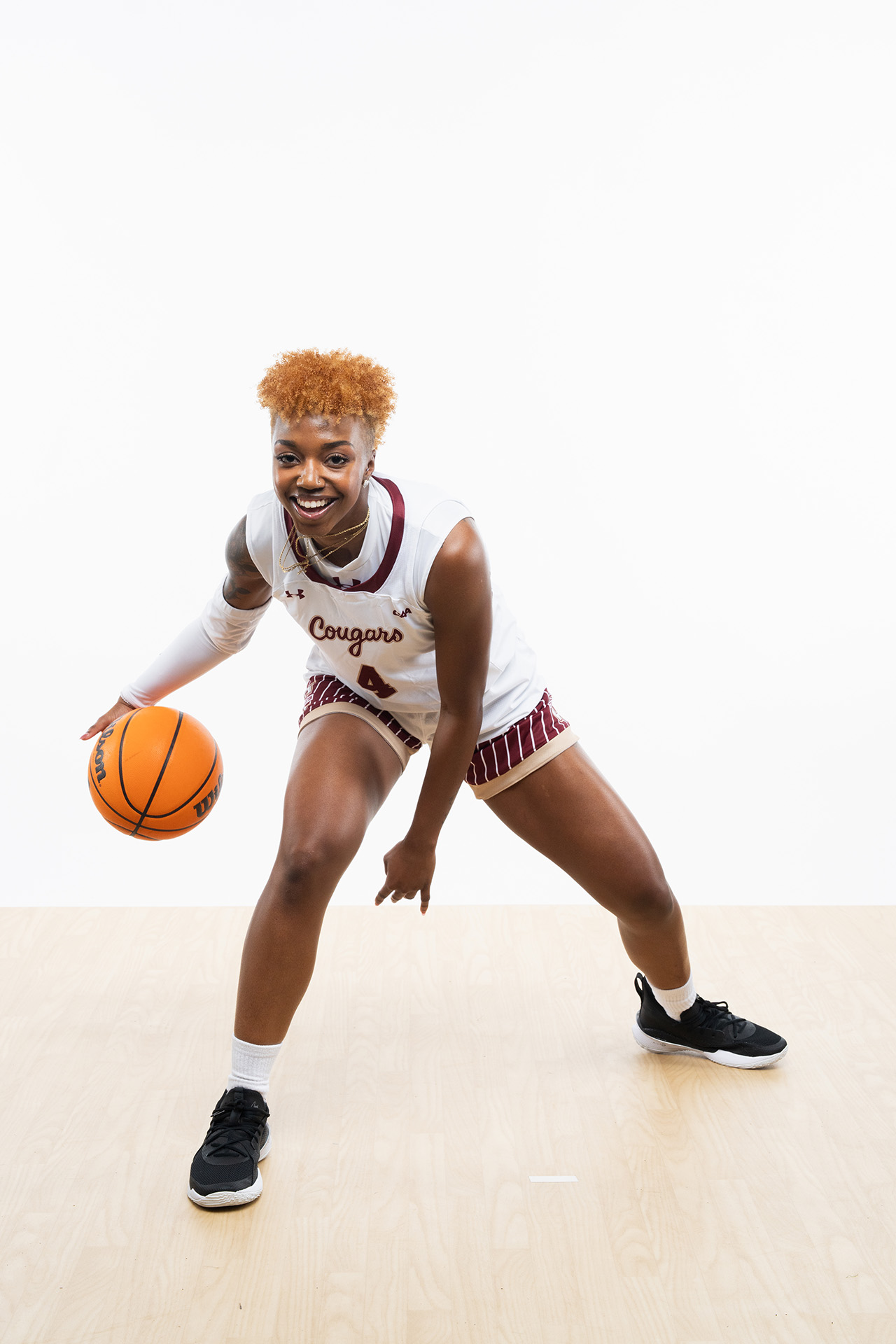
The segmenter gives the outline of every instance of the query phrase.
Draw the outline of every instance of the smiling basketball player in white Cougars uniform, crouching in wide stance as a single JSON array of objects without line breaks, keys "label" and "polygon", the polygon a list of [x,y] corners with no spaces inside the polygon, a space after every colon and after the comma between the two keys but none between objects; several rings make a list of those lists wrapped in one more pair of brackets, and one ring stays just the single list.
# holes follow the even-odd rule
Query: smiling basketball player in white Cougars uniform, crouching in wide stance
[{"label": "smiling basketball player in white Cougars uniform, crouching in wide stance", "polygon": [[271,603],[310,637],[282,839],[243,948],[232,1067],[193,1159],[207,1208],[262,1191],[271,1066],[314,968],[324,911],[411,755],[430,747],[407,835],[375,903],[430,903],[439,831],[461,784],[618,921],[638,974],[645,1050],[762,1068],[786,1042],[701,999],[681,910],[650,843],[600,777],[492,590],[469,509],[375,474],[394,409],[388,372],[361,356],[283,355],[262,379],[274,488],[227,540],[227,578],[203,614],[85,738],[154,704],[246,646]]}]

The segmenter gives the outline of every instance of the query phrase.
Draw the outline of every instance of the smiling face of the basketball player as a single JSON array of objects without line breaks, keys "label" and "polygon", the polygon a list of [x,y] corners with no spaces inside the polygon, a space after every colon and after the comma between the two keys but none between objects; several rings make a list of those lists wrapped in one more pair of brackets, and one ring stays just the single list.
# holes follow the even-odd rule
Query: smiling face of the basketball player
[{"label": "smiling face of the basketball player", "polygon": [[[363,523],[367,482],[376,457],[372,435],[359,415],[329,421],[322,415],[277,418],[273,431],[274,491],[296,528],[317,544],[330,532]],[[349,542],[347,550],[360,551]],[[351,558],[351,556],[349,556]],[[339,563],[339,555],[334,554]],[[344,563],[348,563],[347,560]]]}]

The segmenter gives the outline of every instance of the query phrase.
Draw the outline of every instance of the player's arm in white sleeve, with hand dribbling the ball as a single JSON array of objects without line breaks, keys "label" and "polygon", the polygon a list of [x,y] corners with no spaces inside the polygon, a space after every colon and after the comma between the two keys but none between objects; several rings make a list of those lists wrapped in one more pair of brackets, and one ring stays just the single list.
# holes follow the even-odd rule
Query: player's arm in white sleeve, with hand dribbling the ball
[{"label": "player's arm in white sleeve, with hand dribbling the ball", "polygon": [[218,589],[201,616],[191,621],[173,644],[124,688],[113,707],[82,734],[82,742],[103,732],[130,710],[154,704],[246,648],[267,610],[271,589],[249,554],[244,517],[227,538],[226,556],[223,589]]}]

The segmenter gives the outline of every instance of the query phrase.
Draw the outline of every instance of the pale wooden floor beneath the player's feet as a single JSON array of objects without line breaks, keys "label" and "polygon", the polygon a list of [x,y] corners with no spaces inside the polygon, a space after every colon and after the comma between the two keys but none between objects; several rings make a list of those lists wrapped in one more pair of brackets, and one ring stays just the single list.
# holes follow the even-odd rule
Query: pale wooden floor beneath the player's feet
[{"label": "pale wooden floor beneath the player's feet", "polygon": [[638,1050],[596,907],[332,910],[206,1212],[249,913],[1,911],[0,1339],[892,1344],[896,909],[686,914],[779,1067]]}]

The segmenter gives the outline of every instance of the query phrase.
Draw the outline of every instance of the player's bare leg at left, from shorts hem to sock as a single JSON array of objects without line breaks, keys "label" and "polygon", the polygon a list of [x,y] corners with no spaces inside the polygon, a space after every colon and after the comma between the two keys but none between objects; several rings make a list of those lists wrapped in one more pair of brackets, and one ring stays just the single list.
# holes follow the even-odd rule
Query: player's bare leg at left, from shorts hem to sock
[{"label": "player's bare leg at left, from shorts hem to sock", "polygon": [[314,969],[324,911],[402,766],[375,728],[326,714],[298,735],[279,851],[239,972],[240,1040],[282,1040]]}]

